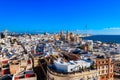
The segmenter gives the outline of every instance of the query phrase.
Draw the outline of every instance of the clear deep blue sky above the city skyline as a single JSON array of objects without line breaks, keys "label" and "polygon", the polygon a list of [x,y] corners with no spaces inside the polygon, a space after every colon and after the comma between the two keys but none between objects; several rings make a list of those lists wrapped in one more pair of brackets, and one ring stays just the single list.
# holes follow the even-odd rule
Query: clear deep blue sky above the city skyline
[{"label": "clear deep blue sky above the city skyline", "polygon": [[120,0],[0,0],[0,31],[5,29],[120,34]]}]

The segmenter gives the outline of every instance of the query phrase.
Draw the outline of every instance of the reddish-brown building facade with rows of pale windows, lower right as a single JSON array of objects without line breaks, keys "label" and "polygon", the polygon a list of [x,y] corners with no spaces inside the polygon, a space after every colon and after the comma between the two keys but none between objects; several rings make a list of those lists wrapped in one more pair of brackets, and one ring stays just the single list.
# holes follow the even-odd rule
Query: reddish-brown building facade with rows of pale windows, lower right
[{"label": "reddish-brown building facade with rows of pale windows, lower right", "polygon": [[114,65],[111,58],[97,58],[96,68],[100,75],[100,80],[113,80],[114,79]]}]

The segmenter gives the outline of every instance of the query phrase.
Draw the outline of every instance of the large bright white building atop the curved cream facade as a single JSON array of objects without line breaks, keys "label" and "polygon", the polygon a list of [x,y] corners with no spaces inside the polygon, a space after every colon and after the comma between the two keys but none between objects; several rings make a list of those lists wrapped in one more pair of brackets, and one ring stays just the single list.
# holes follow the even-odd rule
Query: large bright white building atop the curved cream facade
[{"label": "large bright white building atop the curved cream facade", "polygon": [[81,68],[88,68],[93,64],[91,60],[71,60],[69,62],[63,62],[61,58],[58,58],[58,60],[55,60],[53,63],[55,69],[59,72],[74,72]]}]

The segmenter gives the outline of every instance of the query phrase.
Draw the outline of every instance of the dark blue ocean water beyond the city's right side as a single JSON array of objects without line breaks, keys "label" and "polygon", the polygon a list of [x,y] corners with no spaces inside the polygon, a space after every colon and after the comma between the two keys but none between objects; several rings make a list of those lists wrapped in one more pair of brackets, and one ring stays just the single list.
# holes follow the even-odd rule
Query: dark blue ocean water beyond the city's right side
[{"label": "dark blue ocean water beyond the city's right side", "polygon": [[120,43],[120,35],[93,35],[84,37],[83,40]]}]

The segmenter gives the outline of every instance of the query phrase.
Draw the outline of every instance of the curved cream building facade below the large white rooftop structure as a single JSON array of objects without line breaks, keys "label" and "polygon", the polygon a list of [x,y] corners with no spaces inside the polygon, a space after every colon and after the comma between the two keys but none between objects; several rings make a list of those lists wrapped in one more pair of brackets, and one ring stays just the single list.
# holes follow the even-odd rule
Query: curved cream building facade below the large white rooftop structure
[{"label": "curved cream building facade below the large white rooftop structure", "polygon": [[97,70],[62,74],[48,69],[47,75],[47,80],[100,80]]}]

